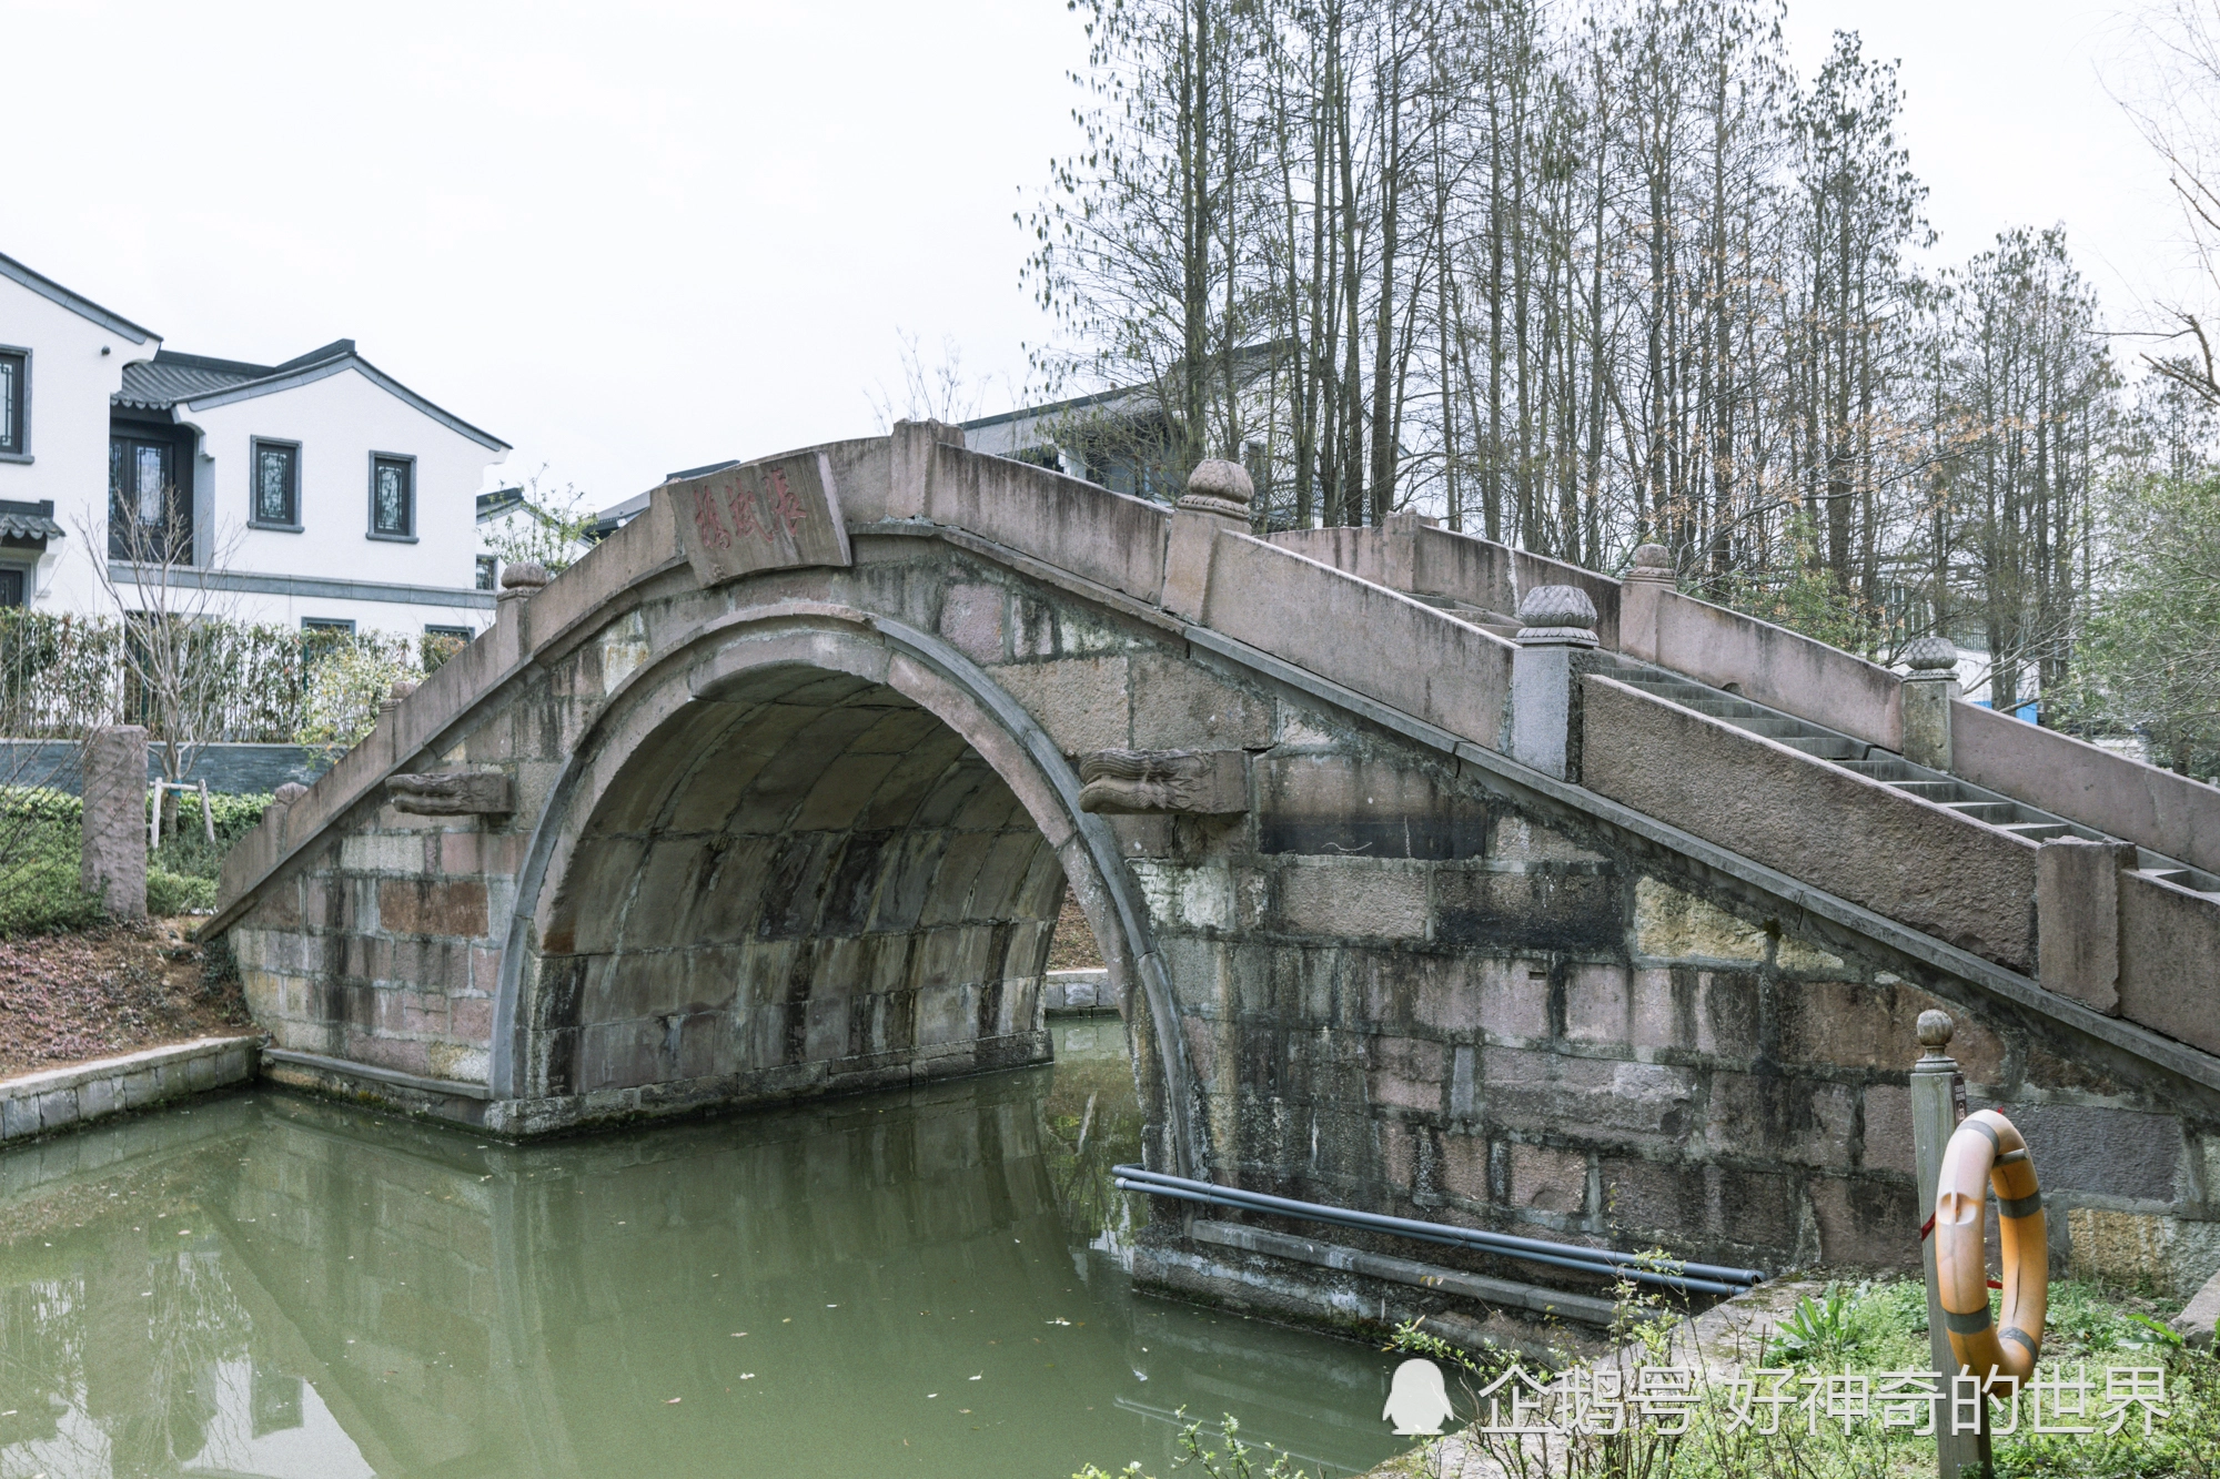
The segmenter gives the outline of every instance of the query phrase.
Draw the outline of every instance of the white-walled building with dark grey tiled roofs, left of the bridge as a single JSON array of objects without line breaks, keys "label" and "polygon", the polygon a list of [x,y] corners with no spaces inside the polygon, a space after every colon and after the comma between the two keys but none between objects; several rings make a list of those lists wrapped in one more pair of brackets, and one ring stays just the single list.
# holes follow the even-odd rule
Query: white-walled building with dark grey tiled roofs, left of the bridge
[{"label": "white-walled building with dark grey tiled roofs, left of the bridge", "polygon": [[[353,340],[284,364],[175,353],[0,255],[0,604],[113,613],[104,569],[129,608],[475,635],[477,491],[506,455]],[[204,600],[140,600],[158,549]]]}]

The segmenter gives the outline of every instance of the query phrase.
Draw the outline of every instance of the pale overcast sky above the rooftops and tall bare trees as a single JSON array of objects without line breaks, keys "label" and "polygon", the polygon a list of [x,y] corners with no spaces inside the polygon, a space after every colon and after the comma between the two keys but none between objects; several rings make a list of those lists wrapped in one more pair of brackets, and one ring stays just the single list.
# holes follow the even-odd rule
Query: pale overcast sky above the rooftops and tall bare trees
[{"label": "pale overcast sky above the rooftops and tall bare trees", "polygon": [[[1836,27],[1903,60],[1938,258],[2065,222],[2120,326],[2180,278],[2120,7],[1789,0],[1798,69]],[[1001,411],[1048,333],[1010,215],[1072,138],[1061,0],[0,0],[0,253],[169,349],[353,338],[515,444],[495,484],[870,433],[897,331]]]}]

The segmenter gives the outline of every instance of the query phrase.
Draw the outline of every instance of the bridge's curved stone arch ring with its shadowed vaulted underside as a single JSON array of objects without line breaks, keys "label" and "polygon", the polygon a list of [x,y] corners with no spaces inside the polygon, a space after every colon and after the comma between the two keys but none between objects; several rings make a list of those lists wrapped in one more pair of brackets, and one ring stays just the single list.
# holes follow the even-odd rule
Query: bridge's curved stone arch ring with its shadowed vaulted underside
[{"label": "bridge's curved stone arch ring with its shadowed vaulted underside", "polygon": [[1070,882],[1154,1046],[1166,1164],[1199,1164],[1148,906],[1039,720],[939,637],[833,602],[655,646],[517,877],[491,1044],[515,1128],[1041,1057],[1006,986],[1039,977]]}]

